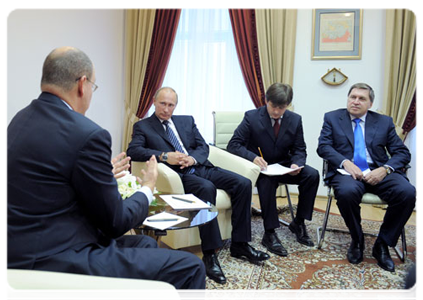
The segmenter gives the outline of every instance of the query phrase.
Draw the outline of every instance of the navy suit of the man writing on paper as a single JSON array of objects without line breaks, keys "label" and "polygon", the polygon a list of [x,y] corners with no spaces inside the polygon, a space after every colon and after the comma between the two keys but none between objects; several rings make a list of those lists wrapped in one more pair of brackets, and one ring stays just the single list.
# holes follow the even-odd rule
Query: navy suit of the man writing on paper
[{"label": "navy suit of the man writing on paper", "polygon": [[264,228],[269,230],[280,226],[276,207],[276,189],[281,182],[299,185],[297,216],[311,220],[319,185],[319,173],[305,164],[307,152],[301,116],[289,110],[285,111],[276,138],[266,106],[246,112],[229,141],[227,149],[231,153],[253,161],[254,158],[260,156],[258,148],[261,149],[263,158],[268,164],[279,163],[285,167],[290,167],[291,164],[304,166],[296,176],[260,174],[257,189]]}]

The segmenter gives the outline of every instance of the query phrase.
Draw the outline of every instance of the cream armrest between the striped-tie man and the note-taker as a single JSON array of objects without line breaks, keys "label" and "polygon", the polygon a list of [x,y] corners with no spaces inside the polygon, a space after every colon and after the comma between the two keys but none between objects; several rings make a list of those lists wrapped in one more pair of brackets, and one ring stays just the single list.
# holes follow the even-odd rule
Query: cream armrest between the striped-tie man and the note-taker
[{"label": "cream armrest between the striped-tie man and the note-taker", "polygon": [[209,161],[223,169],[232,171],[251,180],[252,186],[256,185],[260,175],[260,167],[240,156],[229,153],[215,146],[209,146]]}]

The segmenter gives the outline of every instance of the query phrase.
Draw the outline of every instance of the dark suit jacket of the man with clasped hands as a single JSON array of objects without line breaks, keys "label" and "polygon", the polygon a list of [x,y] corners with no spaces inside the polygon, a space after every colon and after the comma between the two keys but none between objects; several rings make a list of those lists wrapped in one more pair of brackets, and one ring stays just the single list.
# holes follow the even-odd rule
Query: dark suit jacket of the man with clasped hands
[{"label": "dark suit jacket of the man with clasped hands", "polygon": [[[194,118],[192,116],[172,116],[172,121],[189,155],[194,157],[198,164],[212,167],[213,165],[207,160],[209,146],[198,131]],[[132,160],[147,161],[152,155],[155,155],[159,161],[162,152],[173,151],[175,148],[155,114],[134,124],[132,141],[127,150],[127,154]],[[181,173],[180,166],[167,165]]]}]

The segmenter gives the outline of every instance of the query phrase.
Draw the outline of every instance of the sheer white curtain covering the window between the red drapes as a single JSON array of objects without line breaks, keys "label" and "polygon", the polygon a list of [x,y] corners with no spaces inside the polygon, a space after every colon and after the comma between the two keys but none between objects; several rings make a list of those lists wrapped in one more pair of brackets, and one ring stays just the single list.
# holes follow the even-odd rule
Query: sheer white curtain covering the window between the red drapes
[{"label": "sheer white curtain covering the window between the red drapes", "polygon": [[163,86],[178,93],[174,114],[192,115],[211,143],[213,111],[246,111],[254,104],[239,67],[228,9],[183,8],[179,22]]}]

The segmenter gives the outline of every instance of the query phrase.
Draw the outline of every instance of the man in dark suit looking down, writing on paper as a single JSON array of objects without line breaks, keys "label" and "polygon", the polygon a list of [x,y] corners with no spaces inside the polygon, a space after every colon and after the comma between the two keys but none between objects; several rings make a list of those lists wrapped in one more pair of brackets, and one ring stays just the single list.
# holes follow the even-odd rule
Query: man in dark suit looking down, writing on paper
[{"label": "man in dark suit looking down, writing on paper", "polygon": [[262,244],[270,252],[280,256],[287,256],[288,252],[275,232],[280,226],[276,207],[276,189],[279,183],[298,185],[297,215],[289,229],[296,235],[299,243],[307,246],[314,244],[307,233],[304,219],[311,220],[319,185],[319,173],[305,164],[307,153],[301,116],[287,110],[292,97],[290,85],[271,85],[266,91],[266,106],[245,113],[227,147],[229,152],[254,162],[262,170],[268,164],[275,163],[292,169],[304,167],[282,176],[260,174],[257,180],[265,229]]}]

